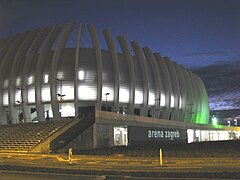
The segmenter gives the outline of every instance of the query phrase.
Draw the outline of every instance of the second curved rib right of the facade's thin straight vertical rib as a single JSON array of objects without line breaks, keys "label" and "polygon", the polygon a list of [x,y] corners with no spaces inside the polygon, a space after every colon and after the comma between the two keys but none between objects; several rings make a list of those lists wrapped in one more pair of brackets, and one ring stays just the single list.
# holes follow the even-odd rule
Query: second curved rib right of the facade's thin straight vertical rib
[{"label": "second curved rib right of the facade's thin straight vertical rib", "polygon": [[111,53],[111,59],[113,63],[113,73],[114,73],[114,103],[113,103],[113,111],[117,112],[119,108],[119,64],[117,51],[115,48],[115,44],[112,38],[112,35],[108,29],[103,30],[103,35],[105,37],[105,41],[108,46],[108,50]]}]

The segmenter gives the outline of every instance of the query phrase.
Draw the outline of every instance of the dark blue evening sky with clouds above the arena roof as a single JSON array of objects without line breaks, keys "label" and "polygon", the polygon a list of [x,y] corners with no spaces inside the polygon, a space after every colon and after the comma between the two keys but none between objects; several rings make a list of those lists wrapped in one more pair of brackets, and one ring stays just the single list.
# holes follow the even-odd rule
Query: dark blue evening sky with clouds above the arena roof
[{"label": "dark blue evening sky with clouds above the arena roof", "polygon": [[102,47],[108,28],[192,69],[211,109],[240,107],[240,0],[0,0],[0,38],[70,20],[94,24]]}]

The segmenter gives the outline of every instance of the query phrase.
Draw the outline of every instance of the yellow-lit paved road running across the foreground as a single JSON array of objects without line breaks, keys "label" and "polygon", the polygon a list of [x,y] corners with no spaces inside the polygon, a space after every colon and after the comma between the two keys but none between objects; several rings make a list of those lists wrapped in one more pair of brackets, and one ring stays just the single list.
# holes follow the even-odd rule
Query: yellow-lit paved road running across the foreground
[{"label": "yellow-lit paved road running across the foreground", "polygon": [[[9,177],[9,174],[15,172],[15,175],[21,176],[20,172],[28,172],[31,179],[29,172],[32,172],[51,173],[47,176],[50,179],[59,179],[59,174],[64,174],[66,179],[69,179],[69,176],[70,179],[116,179],[116,177],[125,177],[125,179],[126,177],[128,179],[134,179],[134,177],[137,179],[140,177],[145,177],[144,179],[146,177],[240,179],[240,160],[237,158],[169,157],[163,158],[162,167],[157,157],[74,155],[71,165],[68,164],[67,158],[67,155],[54,154],[0,153],[0,169],[2,170],[0,175]],[[39,174],[33,176],[41,179]],[[62,179],[64,175],[61,176]],[[82,177],[79,177],[80,175]]]}]

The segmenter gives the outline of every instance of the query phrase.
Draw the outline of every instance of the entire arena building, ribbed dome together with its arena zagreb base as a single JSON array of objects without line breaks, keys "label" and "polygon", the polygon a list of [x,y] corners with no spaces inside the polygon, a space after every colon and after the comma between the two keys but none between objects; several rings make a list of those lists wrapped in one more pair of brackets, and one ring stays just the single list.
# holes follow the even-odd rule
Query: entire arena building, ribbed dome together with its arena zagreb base
[{"label": "entire arena building, ribbed dome together with its arena zagreb base", "polygon": [[[82,32],[82,24],[70,22],[0,40],[1,124],[94,114],[65,143],[83,149],[216,139],[209,135],[216,127],[209,125],[208,95],[196,74],[123,35],[114,42],[107,29],[103,50],[93,25],[92,47],[82,47]],[[74,47],[67,46],[70,41]],[[219,132],[218,140],[224,139]]]}]

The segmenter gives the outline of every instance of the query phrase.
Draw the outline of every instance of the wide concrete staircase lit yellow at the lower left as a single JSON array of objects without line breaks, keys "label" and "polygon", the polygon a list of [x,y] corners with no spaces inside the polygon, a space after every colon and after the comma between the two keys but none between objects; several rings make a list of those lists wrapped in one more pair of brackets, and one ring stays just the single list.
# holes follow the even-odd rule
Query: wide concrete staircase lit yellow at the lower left
[{"label": "wide concrete staircase lit yellow at the lower left", "polygon": [[49,137],[74,120],[55,120],[38,123],[8,124],[0,126],[0,151],[32,151]]}]

